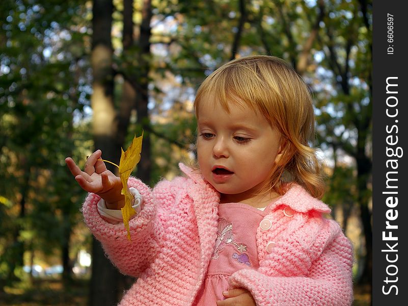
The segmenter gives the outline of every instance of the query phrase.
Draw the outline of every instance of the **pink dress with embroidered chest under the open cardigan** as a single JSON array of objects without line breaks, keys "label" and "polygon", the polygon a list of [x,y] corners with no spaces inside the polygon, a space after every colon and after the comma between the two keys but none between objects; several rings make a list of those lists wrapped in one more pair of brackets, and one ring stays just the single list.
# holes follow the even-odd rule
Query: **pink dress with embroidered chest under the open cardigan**
[{"label": "pink dress with embroidered chest under the open cardigan", "polygon": [[207,274],[193,305],[213,306],[230,289],[228,277],[241,269],[259,268],[256,231],[265,213],[243,203],[219,206],[217,238]]}]

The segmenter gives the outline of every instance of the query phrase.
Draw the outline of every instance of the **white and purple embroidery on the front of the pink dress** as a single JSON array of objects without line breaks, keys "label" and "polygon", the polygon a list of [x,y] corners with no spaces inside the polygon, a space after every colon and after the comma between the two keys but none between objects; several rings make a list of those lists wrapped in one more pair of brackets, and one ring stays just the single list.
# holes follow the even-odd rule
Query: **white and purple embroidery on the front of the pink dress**
[{"label": "white and purple embroidery on the front of the pink dress", "polygon": [[247,266],[251,266],[249,262],[249,257],[246,253],[247,246],[242,243],[236,243],[234,241],[234,234],[232,233],[232,223],[228,222],[224,218],[218,219],[218,228],[216,233],[216,240],[215,240],[215,247],[214,251],[212,252],[211,260],[217,259],[220,256],[220,253],[226,247],[227,244],[232,244],[235,246],[236,250],[239,252],[234,253],[232,255],[233,259],[236,259],[240,264],[246,264]]}]

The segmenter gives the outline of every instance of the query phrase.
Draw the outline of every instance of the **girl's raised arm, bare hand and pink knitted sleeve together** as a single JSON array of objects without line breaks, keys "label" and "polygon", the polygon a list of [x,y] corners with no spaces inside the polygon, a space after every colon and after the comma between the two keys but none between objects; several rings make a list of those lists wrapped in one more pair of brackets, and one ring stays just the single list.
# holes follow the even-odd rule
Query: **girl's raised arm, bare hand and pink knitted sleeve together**
[{"label": "girl's raised arm, bare hand and pink knitted sleeve together", "polygon": [[85,171],[81,171],[71,158],[67,158],[66,163],[78,184],[89,192],[83,213],[91,232],[101,241],[107,256],[123,273],[137,276],[154,260],[159,250],[162,227],[156,219],[156,207],[150,189],[135,179],[129,179],[128,184],[139,190],[145,205],[143,211],[129,222],[132,241],[127,240],[122,223],[111,224],[101,218],[97,211],[97,203],[101,198],[109,209],[124,206],[122,183],[119,177],[106,169],[100,160],[101,154],[97,150],[88,158]]}]

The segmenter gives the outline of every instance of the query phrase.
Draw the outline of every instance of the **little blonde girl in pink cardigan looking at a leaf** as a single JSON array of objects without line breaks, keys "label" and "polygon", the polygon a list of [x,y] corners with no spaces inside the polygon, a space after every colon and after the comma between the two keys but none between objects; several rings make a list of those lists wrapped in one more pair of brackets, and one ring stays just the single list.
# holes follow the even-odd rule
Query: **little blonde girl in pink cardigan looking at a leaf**
[{"label": "little blonde girl in pink cardigan looking at a leaf", "polygon": [[120,305],[350,305],[352,248],[330,209],[312,99],[282,60],[244,57],[200,86],[198,167],[153,190],[129,179],[138,214],[126,238],[119,177],[97,150],[83,213],[122,273],[138,277]]}]

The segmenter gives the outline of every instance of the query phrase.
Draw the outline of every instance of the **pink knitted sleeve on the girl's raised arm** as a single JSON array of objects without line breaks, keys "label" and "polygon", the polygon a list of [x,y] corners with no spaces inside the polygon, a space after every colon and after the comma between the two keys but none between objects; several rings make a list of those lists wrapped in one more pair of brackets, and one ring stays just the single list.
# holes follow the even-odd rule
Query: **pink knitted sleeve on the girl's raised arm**
[{"label": "pink knitted sleeve on the girl's raised arm", "polygon": [[107,257],[123,273],[139,276],[156,258],[162,237],[162,223],[157,218],[152,192],[141,181],[129,178],[129,187],[136,188],[143,197],[143,210],[129,221],[131,241],[123,223],[112,224],[98,213],[100,197],[90,193],[83,205],[85,223],[102,244]]}]

